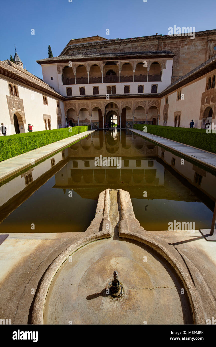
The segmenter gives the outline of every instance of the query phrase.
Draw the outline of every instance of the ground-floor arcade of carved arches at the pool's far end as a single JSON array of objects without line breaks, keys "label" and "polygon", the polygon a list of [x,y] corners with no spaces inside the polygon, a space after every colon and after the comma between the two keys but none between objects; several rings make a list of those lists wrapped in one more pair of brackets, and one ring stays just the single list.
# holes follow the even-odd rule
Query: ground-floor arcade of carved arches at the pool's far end
[{"label": "ground-floor arcade of carved arches at the pool's far end", "polygon": [[158,124],[159,100],[119,101],[66,101],[67,123],[72,126],[91,125],[92,129],[103,129],[104,123],[115,120],[121,128],[132,128],[134,124]]}]

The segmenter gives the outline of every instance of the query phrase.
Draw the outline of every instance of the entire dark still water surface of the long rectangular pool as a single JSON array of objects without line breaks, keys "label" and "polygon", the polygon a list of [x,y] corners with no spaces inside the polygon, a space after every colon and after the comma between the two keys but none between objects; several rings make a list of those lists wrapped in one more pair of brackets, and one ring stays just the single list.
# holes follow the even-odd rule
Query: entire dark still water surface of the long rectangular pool
[{"label": "entire dark still water surface of the long rectangular pool", "polygon": [[[103,166],[109,157],[115,166]],[[167,230],[174,220],[210,228],[216,197],[214,172],[116,129],[97,130],[3,183],[0,232],[85,231],[107,188],[130,193],[146,230]]]}]

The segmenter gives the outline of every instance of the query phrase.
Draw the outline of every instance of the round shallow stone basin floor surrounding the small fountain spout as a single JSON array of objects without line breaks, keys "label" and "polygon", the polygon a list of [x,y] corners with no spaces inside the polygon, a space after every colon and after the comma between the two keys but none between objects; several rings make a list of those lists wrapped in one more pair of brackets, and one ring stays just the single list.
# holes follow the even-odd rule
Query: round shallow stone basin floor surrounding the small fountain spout
[{"label": "round shallow stone basin floor surrounding the small fountain spout", "polygon": [[[118,271],[124,293],[107,283]],[[43,324],[193,324],[175,271],[149,247],[131,240],[97,240],[61,265],[49,287]]]}]

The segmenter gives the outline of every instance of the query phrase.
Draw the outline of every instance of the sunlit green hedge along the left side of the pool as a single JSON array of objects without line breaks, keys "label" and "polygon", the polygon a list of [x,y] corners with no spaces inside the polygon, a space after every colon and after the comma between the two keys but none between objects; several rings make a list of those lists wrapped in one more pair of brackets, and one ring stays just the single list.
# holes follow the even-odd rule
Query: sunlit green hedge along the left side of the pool
[{"label": "sunlit green hedge along the left side of the pool", "polygon": [[90,130],[90,126],[79,126],[53,130],[43,130],[10,136],[0,136],[0,161],[12,158],[50,143]]}]

